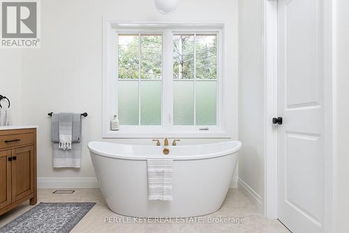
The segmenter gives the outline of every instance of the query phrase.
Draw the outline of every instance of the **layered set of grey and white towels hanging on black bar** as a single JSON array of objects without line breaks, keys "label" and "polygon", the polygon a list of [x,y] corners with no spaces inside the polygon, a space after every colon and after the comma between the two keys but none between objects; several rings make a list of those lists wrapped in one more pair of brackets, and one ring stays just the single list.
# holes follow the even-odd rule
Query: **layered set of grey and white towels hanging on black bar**
[{"label": "layered set of grey and white towels hanging on black bar", "polygon": [[[73,113],[52,114],[51,128],[53,167],[80,167],[82,148],[81,115]],[[70,148],[68,148],[69,146],[61,148],[62,134],[68,136],[64,137],[64,140],[67,140],[67,138],[70,140]],[[72,140],[73,137],[75,137],[75,142]]]}]

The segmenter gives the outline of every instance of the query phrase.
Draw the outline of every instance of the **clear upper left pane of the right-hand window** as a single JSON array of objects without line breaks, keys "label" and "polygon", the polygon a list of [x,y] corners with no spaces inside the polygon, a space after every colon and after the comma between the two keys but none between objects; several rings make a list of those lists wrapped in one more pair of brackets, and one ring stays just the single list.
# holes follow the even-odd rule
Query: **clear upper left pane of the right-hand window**
[{"label": "clear upper left pane of the right-hand window", "polygon": [[194,78],[194,35],[175,34],[173,37],[173,78]]}]

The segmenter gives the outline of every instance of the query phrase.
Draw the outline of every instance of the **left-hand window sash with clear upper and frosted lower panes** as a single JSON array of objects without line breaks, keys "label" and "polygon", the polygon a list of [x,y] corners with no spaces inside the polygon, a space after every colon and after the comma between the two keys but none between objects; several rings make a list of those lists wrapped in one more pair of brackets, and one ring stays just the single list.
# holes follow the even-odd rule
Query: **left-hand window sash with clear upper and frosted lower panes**
[{"label": "left-hand window sash with clear upper and frosted lower panes", "polygon": [[118,34],[121,125],[161,125],[162,35]]}]

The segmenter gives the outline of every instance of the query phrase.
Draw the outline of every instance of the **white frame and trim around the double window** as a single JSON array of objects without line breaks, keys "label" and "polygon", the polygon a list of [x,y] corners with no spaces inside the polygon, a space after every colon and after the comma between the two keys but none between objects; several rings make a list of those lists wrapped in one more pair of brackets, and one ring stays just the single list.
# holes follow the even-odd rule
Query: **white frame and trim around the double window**
[{"label": "white frame and trim around the double window", "polygon": [[[103,24],[103,111],[102,137],[104,138],[229,138],[223,121],[223,27],[224,24],[172,24],[172,23],[119,23],[105,20]],[[117,33],[162,33],[163,75],[161,91],[161,126],[120,126],[110,130],[112,116],[117,113],[118,66]],[[173,126],[173,54],[166,52],[173,43],[174,33],[216,33],[218,38],[217,57],[217,125],[216,126]],[[167,47],[164,45],[168,45]],[[171,45],[171,46],[170,46]],[[151,81],[149,81],[151,82]],[[195,82],[193,80],[188,82]],[[163,93],[167,93],[164,95]],[[209,130],[205,130],[208,128]]]}]

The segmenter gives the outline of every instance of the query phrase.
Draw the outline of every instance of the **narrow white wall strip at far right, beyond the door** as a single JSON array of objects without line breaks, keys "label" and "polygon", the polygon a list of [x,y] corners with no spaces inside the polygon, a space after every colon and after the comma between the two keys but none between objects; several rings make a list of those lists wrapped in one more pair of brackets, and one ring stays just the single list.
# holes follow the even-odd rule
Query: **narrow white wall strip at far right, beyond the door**
[{"label": "narrow white wall strip at far right, beyond the door", "polygon": [[349,232],[349,2],[336,0],[334,39],[334,232]]}]

